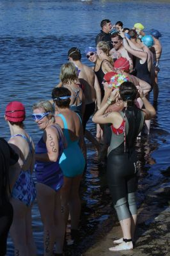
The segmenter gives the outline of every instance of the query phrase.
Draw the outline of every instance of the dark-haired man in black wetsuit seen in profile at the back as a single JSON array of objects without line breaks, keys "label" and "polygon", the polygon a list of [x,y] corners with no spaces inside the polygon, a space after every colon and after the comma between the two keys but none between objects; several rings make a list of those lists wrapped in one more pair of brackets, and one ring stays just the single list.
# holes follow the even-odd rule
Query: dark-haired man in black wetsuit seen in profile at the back
[{"label": "dark-haired man in black wetsuit seen in profile at the back", "polygon": [[111,20],[108,20],[108,19],[102,20],[100,22],[100,27],[102,28],[102,30],[96,37],[96,40],[95,40],[96,45],[98,44],[98,42],[104,41],[104,42],[108,42],[110,48],[112,49],[111,34],[110,34],[110,31],[112,29]]}]

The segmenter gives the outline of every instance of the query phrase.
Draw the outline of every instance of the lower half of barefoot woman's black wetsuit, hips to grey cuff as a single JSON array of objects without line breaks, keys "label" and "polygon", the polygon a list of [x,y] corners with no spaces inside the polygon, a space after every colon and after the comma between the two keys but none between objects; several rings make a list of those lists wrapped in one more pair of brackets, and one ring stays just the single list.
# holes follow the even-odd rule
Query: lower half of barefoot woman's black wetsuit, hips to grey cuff
[{"label": "lower half of barefoot woman's black wetsuit, hips to grey cuff", "polygon": [[128,194],[137,189],[136,163],[135,152],[129,156],[112,150],[107,159],[107,182],[119,220],[132,215],[127,200]]}]

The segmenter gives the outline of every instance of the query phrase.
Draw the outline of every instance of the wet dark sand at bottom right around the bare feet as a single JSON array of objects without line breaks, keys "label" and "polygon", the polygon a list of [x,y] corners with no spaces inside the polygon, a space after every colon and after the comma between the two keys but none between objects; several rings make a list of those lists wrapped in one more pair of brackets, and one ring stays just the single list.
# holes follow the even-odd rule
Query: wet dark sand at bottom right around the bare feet
[{"label": "wet dark sand at bottom right around the bare feet", "polygon": [[[169,173],[170,174],[170,173]],[[110,252],[108,248],[114,246],[113,239],[122,236],[118,220],[113,222],[111,230],[106,232],[107,223],[83,256],[169,256],[170,255],[170,185],[169,177],[162,177],[157,185],[144,193],[144,202],[138,209],[138,223],[135,234],[134,250]],[[111,221],[111,220],[110,220]],[[114,221],[114,220],[113,220]],[[108,223],[109,224],[109,223]],[[103,234],[102,234],[103,232]]]}]

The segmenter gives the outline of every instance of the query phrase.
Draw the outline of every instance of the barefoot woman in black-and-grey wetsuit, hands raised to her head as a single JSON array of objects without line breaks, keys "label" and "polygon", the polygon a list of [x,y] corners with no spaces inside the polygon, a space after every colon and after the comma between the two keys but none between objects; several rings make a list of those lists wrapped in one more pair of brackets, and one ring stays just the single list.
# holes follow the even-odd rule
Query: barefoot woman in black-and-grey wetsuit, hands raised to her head
[{"label": "barefoot woman in black-and-grey wetsuit, hands raised to her head", "polygon": [[[107,83],[104,84],[107,86]],[[114,208],[120,220],[123,238],[114,241],[117,246],[109,248],[111,251],[130,250],[133,248],[137,207],[135,204],[135,191],[137,187],[136,170],[137,156],[134,148],[137,134],[143,127],[144,120],[155,116],[155,109],[138,88],[145,109],[141,111],[134,105],[137,88],[131,82],[124,82],[120,90],[105,88],[107,102],[93,116],[93,122],[99,124],[111,123],[112,138],[107,159],[107,180],[112,195]],[[122,111],[104,114],[112,101],[118,97],[123,100]]]}]

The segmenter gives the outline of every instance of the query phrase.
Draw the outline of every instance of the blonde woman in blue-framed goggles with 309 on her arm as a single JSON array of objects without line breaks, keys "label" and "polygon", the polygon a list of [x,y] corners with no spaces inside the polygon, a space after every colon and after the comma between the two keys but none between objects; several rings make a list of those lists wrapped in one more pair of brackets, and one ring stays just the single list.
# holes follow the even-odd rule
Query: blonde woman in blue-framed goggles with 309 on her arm
[{"label": "blonde woman in blue-framed goggles with 309 on her arm", "polygon": [[32,117],[43,131],[42,138],[35,147],[35,174],[37,202],[44,228],[44,255],[54,255],[56,242],[56,255],[61,256],[65,225],[61,215],[60,190],[63,173],[59,167],[59,158],[63,153],[65,140],[61,127],[55,124],[54,109],[49,101],[34,104]]}]

